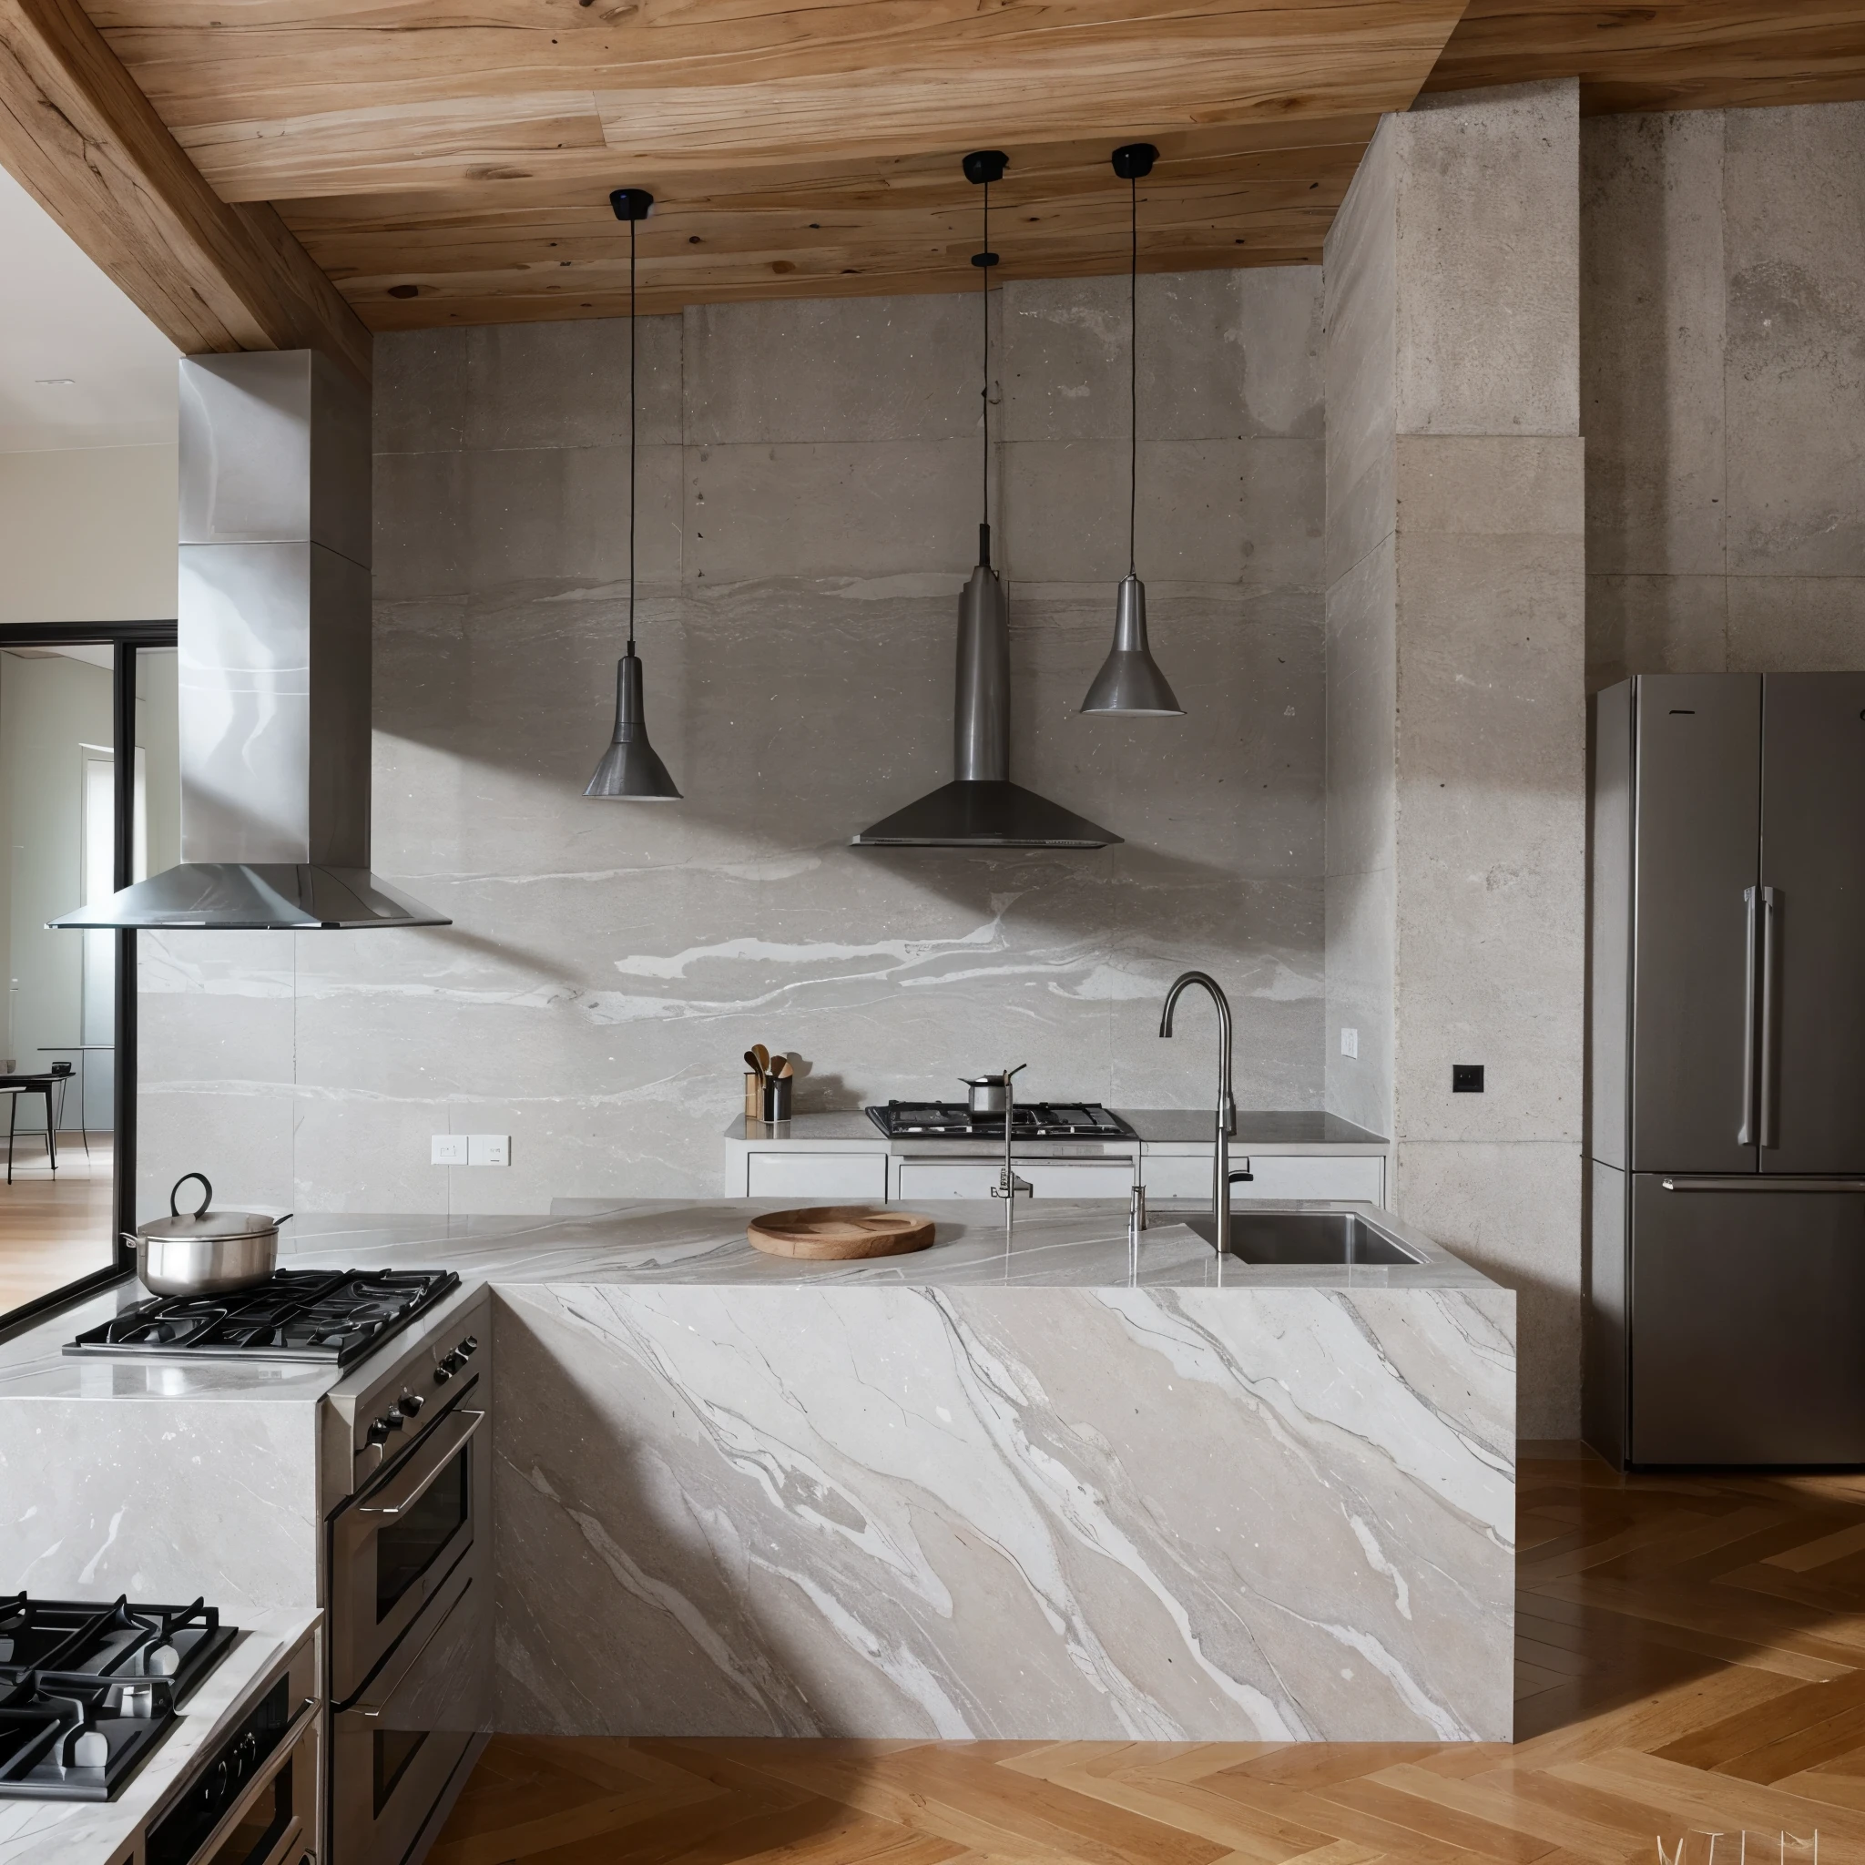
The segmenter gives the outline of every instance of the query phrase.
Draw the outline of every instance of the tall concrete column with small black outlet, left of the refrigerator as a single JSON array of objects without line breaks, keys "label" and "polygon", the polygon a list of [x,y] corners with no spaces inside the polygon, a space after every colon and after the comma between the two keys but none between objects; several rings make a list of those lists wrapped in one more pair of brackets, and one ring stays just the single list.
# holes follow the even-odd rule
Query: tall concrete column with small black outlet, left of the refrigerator
[{"label": "tall concrete column with small black outlet, left of the refrigerator", "polygon": [[1328,1106],[1520,1291],[1524,1436],[1580,1417],[1578,147],[1572,82],[1429,99],[1324,257]]}]

